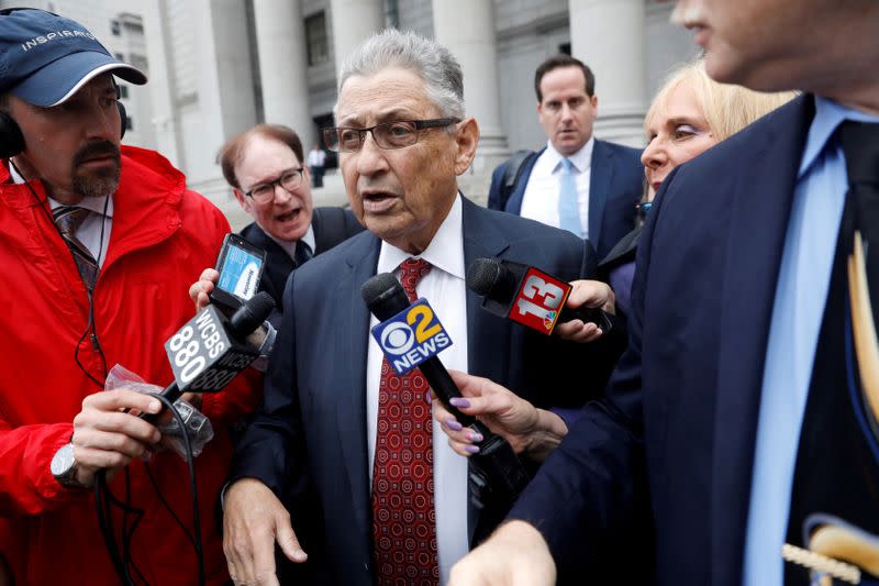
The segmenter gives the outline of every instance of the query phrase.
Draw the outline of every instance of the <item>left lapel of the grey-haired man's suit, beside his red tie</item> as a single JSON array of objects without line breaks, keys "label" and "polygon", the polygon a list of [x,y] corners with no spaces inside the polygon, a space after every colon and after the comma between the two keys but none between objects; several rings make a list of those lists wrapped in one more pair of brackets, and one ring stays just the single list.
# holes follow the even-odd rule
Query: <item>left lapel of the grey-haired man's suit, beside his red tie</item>
[{"label": "left lapel of the grey-haired man's suit, beside his red tie", "polygon": [[[336,417],[338,442],[351,486],[352,506],[361,532],[369,534],[369,453],[366,442],[366,356],[369,311],[360,297],[360,286],[376,273],[380,242],[375,235],[361,236],[364,246],[353,248],[345,259],[347,272],[336,287],[335,307],[338,346],[337,372],[333,377],[338,388]],[[333,351],[331,351],[333,352]]]}]

